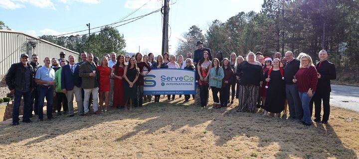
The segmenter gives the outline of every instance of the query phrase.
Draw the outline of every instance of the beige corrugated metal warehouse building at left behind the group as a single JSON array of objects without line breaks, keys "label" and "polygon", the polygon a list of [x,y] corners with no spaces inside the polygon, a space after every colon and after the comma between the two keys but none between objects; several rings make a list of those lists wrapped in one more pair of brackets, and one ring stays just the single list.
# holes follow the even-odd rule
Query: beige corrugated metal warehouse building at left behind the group
[{"label": "beige corrugated metal warehouse building at left behind the group", "polygon": [[30,56],[29,62],[31,55],[37,54],[38,62],[43,65],[45,57],[60,58],[60,51],[66,53],[66,59],[69,55],[73,55],[78,60],[78,52],[23,32],[0,29],[0,98],[10,92],[4,77],[11,64],[20,62],[21,53],[27,53]]}]

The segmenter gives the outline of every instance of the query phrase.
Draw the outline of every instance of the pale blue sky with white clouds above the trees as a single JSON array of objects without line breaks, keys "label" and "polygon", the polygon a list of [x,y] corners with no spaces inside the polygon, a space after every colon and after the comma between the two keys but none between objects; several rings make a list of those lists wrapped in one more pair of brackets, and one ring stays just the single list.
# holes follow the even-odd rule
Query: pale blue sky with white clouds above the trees
[{"label": "pale blue sky with white clouds above the trees", "polygon": [[[86,34],[87,23],[91,28],[111,24],[128,15],[125,19],[150,13],[161,8],[162,3],[162,0],[0,0],[0,20],[12,30],[35,36],[80,30],[86,31],[74,34]],[[172,54],[178,39],[190,26],[197,25],[204,34],[215,19],[225,22],[241,11],[259,12],[263,0],[171,0],[170,3],[169,51]],[[116,27],[126,40],[125,50],[135,53],[140,47],[140,52],[160,54],[162,19],[160,11]],[[91,29],[91,32],[98,30]]]}]

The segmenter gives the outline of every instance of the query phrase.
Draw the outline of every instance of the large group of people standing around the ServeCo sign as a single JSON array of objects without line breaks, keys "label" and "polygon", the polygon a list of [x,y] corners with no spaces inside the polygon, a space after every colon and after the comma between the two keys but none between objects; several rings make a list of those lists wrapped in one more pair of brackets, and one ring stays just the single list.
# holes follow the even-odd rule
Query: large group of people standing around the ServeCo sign
[{"label": "large group of people standing around the ServeCo sign", "polygon": [[[60,52],[59,59],[45,57],[43,66],[37,62],[38,55],[32,54],[28,62],[28,54],[23,53],[20,62],[12,64],[6,75],[6,84],[14,94],[12,125],[19,124],[21,98],[24,123],[31,123],[32,112],[38,116],[38,121],[43,121],[44,98],[47,120],[53,118],[54,112],[73,117],[74,96],[80,116],[91,116],[91,105],[95,115],[107,112],[108,107],[132,111],[133,107],[153,101],[152,95],[144,95],[144,76],[151,69],[163,68],[195,71],[200,98],[197,100],[202,108],[208,106],[211,90],[213,108],[227,107],[236,97],[237,112],[254,113],[256,109],[263,109],[264,116],[280,117],[287,115],[289,108],[289,119],[310,126],[314,104],[314,122],[327,124],[330,80],[336,79],[336,70],[327,60],[326,50],[319,52],[320,61],[314,65],[305,53],[295,58],[291,51],[287,51],[285,57],[279,52],[272,57],[249,52],[244,58],[233,52],[229,58],[223,58],[222,52],[217,51],[212,58],[211,50],[203,47],[201,41],[197,42],[197,47],[193,58],[191,52],[186,58],[169,53],[157,57],[153,53],[116,56],[115,52],[98,58],[82,51],[79,63],[75,63],[73,55],[65,59],[65,53]],[[190,96],[185,94],[184,101],[189,101]],[[154,102],[160,102],[161,95],[154,97]],[[167,95],[168,101],[175,99],[176,95]],[[324,114],[321,119],[322,100]]]}]

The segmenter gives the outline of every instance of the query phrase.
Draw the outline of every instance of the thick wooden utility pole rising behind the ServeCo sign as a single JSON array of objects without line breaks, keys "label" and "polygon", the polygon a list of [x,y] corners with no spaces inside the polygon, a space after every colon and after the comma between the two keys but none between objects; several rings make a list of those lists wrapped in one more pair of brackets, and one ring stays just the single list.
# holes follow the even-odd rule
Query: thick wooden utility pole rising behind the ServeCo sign
[{"label": "thick wooden utility pole rising behind the ServeCo sign", "polygon": [[162,52],[163,55],[165,52],[168,52],[169,46],[168,46],[168,23],[169,23],[169,1],[170,0],[164,0],[164,6],[161,9],[161,12],[164,16],[163,19],[163,29],[162,29]]}]

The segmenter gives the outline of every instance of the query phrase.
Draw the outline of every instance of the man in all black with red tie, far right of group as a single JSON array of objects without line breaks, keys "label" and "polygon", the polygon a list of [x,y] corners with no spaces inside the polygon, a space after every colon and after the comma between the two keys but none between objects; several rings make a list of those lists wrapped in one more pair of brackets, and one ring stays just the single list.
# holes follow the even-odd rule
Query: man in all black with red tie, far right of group
[{"label": "man in all black with red tie, far right of group", "polygon": [[[316,93],[313,96],[313,101],[315,105],[315,122],[320,122],[321,124],[327,124],[329,120],[330,114],[330,92],[331,89],[331,82],[330,80],[334,80],[337,78],[336,68],[335,65],[327,60],[328,53],[326,50],[319,51],[319,59],[320,61],[317,62],[316,69],[318,71],[318,85]],[[322,100],[323,100],[323,119],[321,121],[321,107],[322,107]],[[313,102],[310,104],[311,114],[313,112]]]}]

